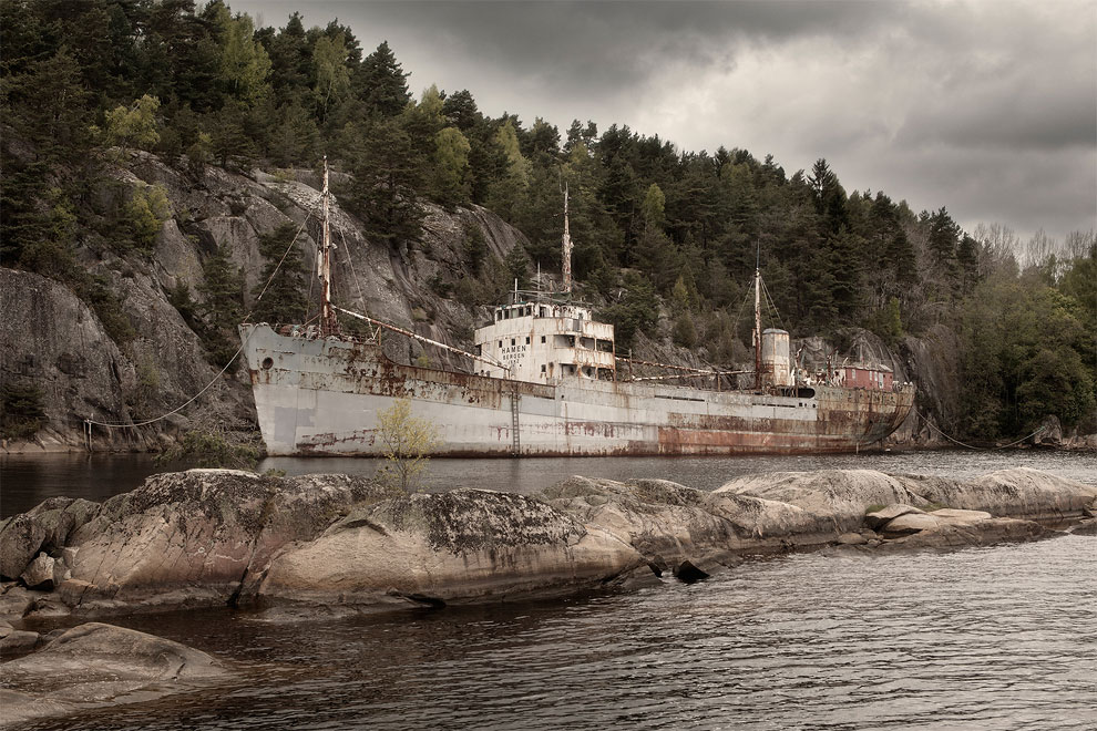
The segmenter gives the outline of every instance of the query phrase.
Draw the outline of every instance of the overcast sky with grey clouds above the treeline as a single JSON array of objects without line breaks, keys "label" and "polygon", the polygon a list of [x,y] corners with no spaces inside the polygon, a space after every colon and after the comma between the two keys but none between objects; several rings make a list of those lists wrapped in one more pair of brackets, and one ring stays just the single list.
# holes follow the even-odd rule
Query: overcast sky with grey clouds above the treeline
[{"label": "overcast sky with grey clouds above the treeline", "polygon": [[228,0],[264,25],[388,40],[417,95],[627,124],[679,151],[826,157],[847,192],[1062,240],[1097,227],[1097,0]]}]

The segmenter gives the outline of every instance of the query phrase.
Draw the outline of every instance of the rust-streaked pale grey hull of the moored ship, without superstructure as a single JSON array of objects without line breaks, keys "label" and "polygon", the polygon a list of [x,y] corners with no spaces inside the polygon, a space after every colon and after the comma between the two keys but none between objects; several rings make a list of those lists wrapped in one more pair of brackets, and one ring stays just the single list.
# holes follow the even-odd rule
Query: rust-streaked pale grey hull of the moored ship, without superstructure
[{"label": "rust-streaked pale grey hull of the moored ship, without superstructure", "polygon": [[398,399],[432,423],[435,455],[575,456],[852,452],[891,434],[913,391],[822,385],[800,395],[629,381],[536,383],[392,362],[376,344],[244,325],[271,455],[376,456]]}]

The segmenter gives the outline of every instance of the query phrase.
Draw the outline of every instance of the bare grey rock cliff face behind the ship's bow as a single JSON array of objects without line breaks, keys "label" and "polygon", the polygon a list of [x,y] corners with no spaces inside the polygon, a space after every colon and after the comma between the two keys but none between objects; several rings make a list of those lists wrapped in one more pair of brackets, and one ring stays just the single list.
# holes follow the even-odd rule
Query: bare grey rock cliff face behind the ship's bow
[{"label": "bare grey rock cliff face behind the ship's bow", "polygon": [[[249,431],[254,425],[250,388],[242,375],[218,379],[224,366],[204,348],[170,301],[168,292],[187,285],[198,297],[203,261],[226,245],[244,279],[245,309],[254,305],[267,260],[259,237],[278,226],[300,228],[296,246],[306,267],[315,267],[320,194],[312,171],[248,175],[206,167],[197,177],[148,153],[134,152],[112,176],[117,189],[161,185],[170,215],[153,250],[124,256],[110,247],[82,245],[81,265],[105,278],[116,294],[135,337],[119,343],[95,312],[66,287],[38,275],[0,269],[0,373],[6,384],[41,389],[45,421],[33,440],[6,442],[3,450],[84,449],[84,421],[137,423],[184,404],[207,384],[194,403],[146,426],[93,425],[90,443],[102,450],[157,449],[186,429]],[[119,195],[117,189],[99,192]],[[471,276],[467,230],[478,228],[486,256],[502,259],[523,236],[480,207],[447,212],[427,205],[420,240],[397,249],[375,246],[362,226],[338,205],[332,210],[335,298],[350,309],[414,330],[432,339],[471,347],[472,327],[484,317],[432,291],[430,282]],[[318,235],[318,234],[317,234]],[[315,300],[315,290],[314,290]],[[314,302],[315,307],[315,302]],[[418,341],[383,339],[394,360],[423,354]],[[445,353],[433,362],[452,364]]]}]

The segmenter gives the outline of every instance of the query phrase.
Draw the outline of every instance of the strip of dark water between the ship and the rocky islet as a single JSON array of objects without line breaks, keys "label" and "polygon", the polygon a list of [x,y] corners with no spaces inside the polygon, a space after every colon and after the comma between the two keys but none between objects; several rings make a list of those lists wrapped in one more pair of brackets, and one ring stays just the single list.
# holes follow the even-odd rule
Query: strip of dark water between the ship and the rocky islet
[{"label": "strip of dark water between the ship and the rocky islet", "polygon": [[[284,470],[289,475],[315,472],[371,475],[382,462],[353,457],[268,457],[259,463],[258,470]],[[584,475],[617,480],[659,477],[699,490],[715,490],[732,477],[757,472],[880,470],[895,474],[975,477],[1003,467],[1021,466],[1097,484],[1097,453],[965,450],[739,457],[435,459],[430,463],[423,488],[484,487],[532,494],[571,475]],[[133,490],[145,477],[162,470],[147,455],[0,456],[0,517],[28,511],[55,495],[101,501]]]}]

